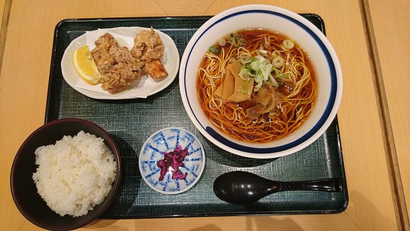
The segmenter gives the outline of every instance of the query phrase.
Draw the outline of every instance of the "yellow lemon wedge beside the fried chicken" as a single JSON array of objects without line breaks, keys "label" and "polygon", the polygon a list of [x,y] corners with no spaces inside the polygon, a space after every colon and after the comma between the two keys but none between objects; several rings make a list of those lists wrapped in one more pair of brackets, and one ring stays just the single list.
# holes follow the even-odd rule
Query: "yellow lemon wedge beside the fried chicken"
[{"label": "yellow lemon wedge beside the fried chicken", "polygon": [[88,46],[84,46],[73,52],[73,64],[77,73],[89,84],[97,84],[101,79],[94,59]]}]

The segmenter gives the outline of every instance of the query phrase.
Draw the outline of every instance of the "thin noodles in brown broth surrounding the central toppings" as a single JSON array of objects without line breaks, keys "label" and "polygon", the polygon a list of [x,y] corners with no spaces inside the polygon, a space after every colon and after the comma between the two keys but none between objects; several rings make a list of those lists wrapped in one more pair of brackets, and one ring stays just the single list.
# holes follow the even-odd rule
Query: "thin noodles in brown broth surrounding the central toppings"
[{"label": "thin noodles in brown broth surrounding the central toppings", "polygon": [[[237,33],[243,34],[245,45],[216,44],[218,53],[207,52],[204,55],[197,78],[197,96],[202,110],[213,125],[240,141],[264,143],[288,136],[306,120],[316,99],[316,77],[309,57],[296,43],[286,49],[282,42],[289,39],[281,34],[256,29]],[[277,68],[283,74],[282,78],[284,76],[281,83],[291,82],[293,90],[270,112],[252,120],[245,112],[247,102],[223,103],[215,91],[223,82],[226,67],[233,59],[255,57],[261,55],[261,51],[268,51],[262,54],[272,60],[273,57],[282,57],[283,61],[278,60],[283,65]]]}]

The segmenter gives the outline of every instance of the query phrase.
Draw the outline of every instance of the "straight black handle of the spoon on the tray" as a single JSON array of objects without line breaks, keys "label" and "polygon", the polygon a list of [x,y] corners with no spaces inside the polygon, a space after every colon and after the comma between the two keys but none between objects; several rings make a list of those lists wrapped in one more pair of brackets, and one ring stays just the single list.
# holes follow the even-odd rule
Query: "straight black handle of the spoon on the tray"
[{"label": "straight black handle of the spoon on the tray", "polygon": [[314,181],[278,182],[279,191],[293,190],[317,190],[317,191],[341,191],[342,184],[338,178],[329,178]]}]

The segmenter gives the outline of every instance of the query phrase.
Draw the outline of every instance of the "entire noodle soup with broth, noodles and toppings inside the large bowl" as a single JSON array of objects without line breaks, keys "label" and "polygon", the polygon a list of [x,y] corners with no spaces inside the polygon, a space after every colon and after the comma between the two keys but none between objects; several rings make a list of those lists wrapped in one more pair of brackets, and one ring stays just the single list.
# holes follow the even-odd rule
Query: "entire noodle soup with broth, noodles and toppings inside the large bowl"
[{"label": "entire noodle soup with broth, noodles and toppings inside the large bowl", "polygon": [[223,37],[203,57],[197,97],[228,136],[265,143],[295,131],[316,100],[313,65],[291,38],[265,29]]}]

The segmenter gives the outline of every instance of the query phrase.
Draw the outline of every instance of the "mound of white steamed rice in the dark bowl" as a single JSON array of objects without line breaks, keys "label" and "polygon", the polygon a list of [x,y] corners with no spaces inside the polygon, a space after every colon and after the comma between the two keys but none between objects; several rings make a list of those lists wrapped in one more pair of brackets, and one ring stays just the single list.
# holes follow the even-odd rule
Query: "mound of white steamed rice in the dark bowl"
[{"label": "mound of white steamed rice in the dark bowl", "polygon": [[60,216],[83,216],[103,202],[112,188],[116,163],[104,140],[78,132],[35,150],[38,194]]}]

